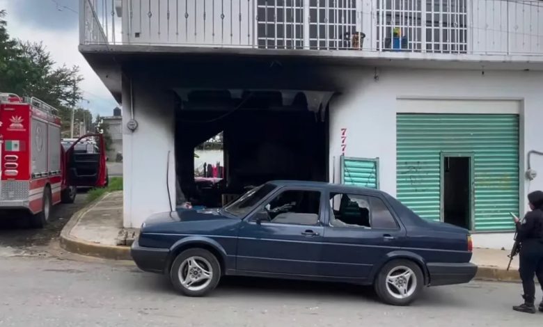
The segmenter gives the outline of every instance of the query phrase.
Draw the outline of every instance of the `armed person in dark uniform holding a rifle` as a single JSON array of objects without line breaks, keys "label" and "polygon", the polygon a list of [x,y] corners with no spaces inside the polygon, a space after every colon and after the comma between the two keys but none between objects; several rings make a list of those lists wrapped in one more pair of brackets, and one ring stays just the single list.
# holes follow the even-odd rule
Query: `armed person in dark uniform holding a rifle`
[{"label": "armed person in dark uniform holding a rifle", "polygon": [[[530,209],[523,221],[514,218],[517,225],[517,241],[520,242],[519,273],[524,289],[524,303],[513,307],[519,312],[535,313],[535,282],[537,276],[543,290],[543,192],[528,194]],[[543,301],[539,310],[543,312]]]}]

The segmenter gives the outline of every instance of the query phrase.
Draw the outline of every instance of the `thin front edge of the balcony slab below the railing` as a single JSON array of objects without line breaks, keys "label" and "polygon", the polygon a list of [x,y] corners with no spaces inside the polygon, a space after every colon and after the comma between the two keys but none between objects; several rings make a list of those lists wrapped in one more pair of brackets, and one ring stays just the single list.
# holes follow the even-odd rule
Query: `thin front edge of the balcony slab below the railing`
[{"label": "thin front edge of the balcony slab below the railing", "polygon": [[[543,54],[434,54],[422,52],[365,51],[365,50],[309,50],[309,49],[253,49],[244,47],[183,47],[171,45],[79,45],[85,56],[114,54],[187,55],[187,56],[251,56],[274,59],[297,57],[315,60],[326,65],[398,66],[423,69],[479,70],[543,70]],[[363,59],[363,61],[361,61]]]}]

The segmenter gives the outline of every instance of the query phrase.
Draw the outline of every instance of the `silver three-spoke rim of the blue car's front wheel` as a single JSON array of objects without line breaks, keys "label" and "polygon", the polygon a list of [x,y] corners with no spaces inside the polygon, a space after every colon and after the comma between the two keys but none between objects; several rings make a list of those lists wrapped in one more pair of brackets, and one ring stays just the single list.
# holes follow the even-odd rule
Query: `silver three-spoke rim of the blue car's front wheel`
[{"label": "silver three-spoke rim of the blue car's front wheel", "polygon": [[196,292],[210,285],[213,269],[203,257],[188,257],[179,266],[178,275],[183,287]]}]

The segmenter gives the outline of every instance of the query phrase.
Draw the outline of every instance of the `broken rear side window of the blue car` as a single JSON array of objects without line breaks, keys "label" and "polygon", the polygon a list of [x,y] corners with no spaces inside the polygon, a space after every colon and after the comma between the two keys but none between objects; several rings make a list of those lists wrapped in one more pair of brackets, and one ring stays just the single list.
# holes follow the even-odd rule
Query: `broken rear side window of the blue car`
[{"label": "broken rear side window of the blue car", "polygon": [[330,225],[338,228],[398,229],[383,200],[347,193],[331,194]]}]

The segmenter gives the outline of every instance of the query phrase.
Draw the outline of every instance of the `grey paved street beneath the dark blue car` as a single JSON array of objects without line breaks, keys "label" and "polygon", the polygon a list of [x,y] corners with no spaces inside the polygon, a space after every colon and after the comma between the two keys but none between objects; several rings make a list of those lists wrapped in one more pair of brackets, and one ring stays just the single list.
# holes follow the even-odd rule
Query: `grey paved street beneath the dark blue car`
[{"label": "grey paved street beneath the dark blue car", "polygon": [[[0,255],[1,256],[1,255]],[[126,262],[0,257],[0,326],[541,326],[519,314],[520,285],[427,289],[409,308],[368,289],[276,280],[228,280],[207,298],[173,293],[163,276]]]}]

